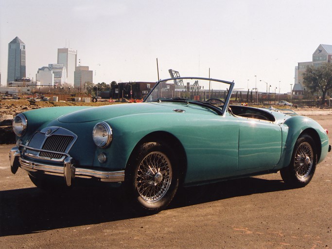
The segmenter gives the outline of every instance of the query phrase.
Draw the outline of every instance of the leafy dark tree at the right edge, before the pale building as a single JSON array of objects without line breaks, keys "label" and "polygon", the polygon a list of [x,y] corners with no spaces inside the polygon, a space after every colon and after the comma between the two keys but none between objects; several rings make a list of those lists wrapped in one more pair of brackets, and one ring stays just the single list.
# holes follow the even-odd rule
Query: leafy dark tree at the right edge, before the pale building
[{"label": "leafy dark tree at the right edge, before the pale building", "polygon": [[303,84],[312,93],[322,91],[322,104],[328,90],[332,89],[332,64],[322,63],[322,66],[311,66],[303,73]]}]

